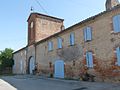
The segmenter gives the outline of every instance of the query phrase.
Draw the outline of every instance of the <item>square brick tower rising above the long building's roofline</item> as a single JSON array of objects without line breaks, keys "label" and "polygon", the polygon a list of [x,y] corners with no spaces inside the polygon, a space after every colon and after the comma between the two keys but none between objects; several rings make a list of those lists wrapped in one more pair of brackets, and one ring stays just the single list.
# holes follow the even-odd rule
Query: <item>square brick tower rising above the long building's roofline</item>
[{"label": "square brick tower rising above the long building's roofline", "polygon": [[63,28],[63,19],[40,14],[31,13],[28,22],[28,46],[39,42]]}]

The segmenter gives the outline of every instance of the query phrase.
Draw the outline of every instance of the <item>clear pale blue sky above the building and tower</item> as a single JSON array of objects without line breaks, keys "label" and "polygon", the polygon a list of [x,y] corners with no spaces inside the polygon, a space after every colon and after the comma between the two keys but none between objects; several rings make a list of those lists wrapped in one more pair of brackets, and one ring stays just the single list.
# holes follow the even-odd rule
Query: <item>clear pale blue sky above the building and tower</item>
[{"label": "clear pale blue sky above the building and tower", "polygon": [[[38,0],[48,15],[63,18],[69,27],[105,10],[106,0]],[[2,0],[0,3],[0,50],[27,45],[30,7],[46,14],[35,0]]]}]

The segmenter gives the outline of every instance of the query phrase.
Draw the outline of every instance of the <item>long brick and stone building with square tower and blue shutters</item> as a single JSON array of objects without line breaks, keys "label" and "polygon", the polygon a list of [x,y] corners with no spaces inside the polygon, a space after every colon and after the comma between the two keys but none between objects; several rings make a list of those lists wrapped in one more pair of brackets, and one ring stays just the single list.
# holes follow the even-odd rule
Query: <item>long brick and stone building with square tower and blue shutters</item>
[{"label": "long brick and stone building with square tower and blue shutters", "polygon": [[28,45],[13,53],[15,74],[120,80],[120,3],[106,0],[106,10],[64,28],[63,19],[31,13]]}]

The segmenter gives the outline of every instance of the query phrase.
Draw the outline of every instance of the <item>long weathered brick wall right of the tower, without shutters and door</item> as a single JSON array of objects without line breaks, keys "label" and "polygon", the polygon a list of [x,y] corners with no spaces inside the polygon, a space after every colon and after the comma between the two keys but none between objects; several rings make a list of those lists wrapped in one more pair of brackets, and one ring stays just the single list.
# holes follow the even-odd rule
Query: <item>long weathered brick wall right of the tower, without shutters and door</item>
[{"label": "long weathered brick wall right of the tower, without shutters and door", "polygon": [[[54,68],[55,61],[60,59],[64,60],[65,62],[66,77],[80,77],[81,73],[87,71],[94,75],[98,81],[110,79],[111,81],[113,79],[114,81],[119,81],[120,67],[115,65],[115,48],[120,46],[120,33],[114,33],[112,20],[113,16],[117,14],[120,14],[120,9],[100,15],[93,20],[89,20],[85,23],[69,28],[63,33],[55,35],[52,38],[45,40],[44,42],[36,44],[36,62],[38,63],[39,71],[51,71],[50,63],[52,63]],[[83,29],[87,26],[92,27],[92,41],[90,42],[84,41]],[[70,33],[75,34],[74,46],[70,46],[69,43]],[[63,40],[62,49],[57,49],[57,37],[61,37]],[[53,42],[53,51],[48,51],[49,41]],[[71,55],[73,53],[76,55],[75,53],[78,53],[77,50],[80,50],[80,55],[76,59],[73,59],[72,57],[74,56],[71,57]],[[59,55],[59,53],[63,51],[65,55],[68,55],[66,58],[64,58],[65,55]],[[86,67],[86,51],[93,52],[94,68],[88,69]],[[73,63],[75,63],[75,65],[73,65]],[[115,76],[116,78],[112,78]]]}]

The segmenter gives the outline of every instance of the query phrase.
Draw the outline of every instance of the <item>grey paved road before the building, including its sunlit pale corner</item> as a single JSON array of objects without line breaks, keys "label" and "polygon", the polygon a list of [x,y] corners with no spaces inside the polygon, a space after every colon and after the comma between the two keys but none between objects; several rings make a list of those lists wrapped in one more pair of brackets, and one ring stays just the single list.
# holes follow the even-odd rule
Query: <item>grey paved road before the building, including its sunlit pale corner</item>
[{"label": "grey paved road before the building, including its sunlit pale corner", "polygon": [[[11,86],[2,80],[10,83]],[[120,84],[46,79],[35,76],[7,76],[1,78],[0,90],[120,90]]]}]

